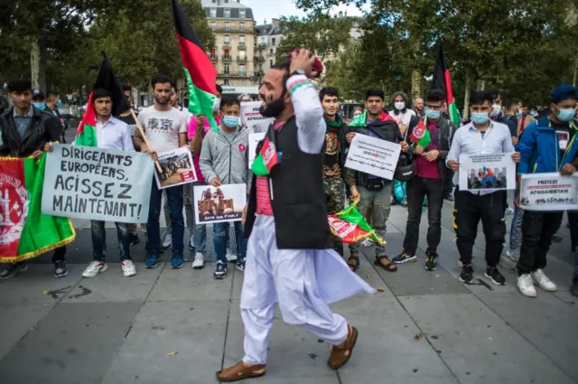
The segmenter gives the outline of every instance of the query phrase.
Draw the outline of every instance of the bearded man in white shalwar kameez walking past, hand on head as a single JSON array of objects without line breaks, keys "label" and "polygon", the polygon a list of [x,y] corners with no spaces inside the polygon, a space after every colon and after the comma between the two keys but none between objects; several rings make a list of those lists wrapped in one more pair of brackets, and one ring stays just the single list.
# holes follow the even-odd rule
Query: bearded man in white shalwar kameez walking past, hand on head
[{"label": "bearded man in white shalwar kameez walking past, hand on head", "polygon": [[275,303],[285,323],[301,325],[333,346],[327,362],[337,370],[350,360],[358,331],[328,304],[361,291],[375,292],[331,248],[322,183],[326,126],[319,94],[309,80],[318,62],[307,50],[294,52],[290,64],[267,71],[259,88],[261,114],[275,117],[257,148],[270,173],[258,174],[253,166],[240,304],[245,356],[217,372],[221,381],[266,373]]}]

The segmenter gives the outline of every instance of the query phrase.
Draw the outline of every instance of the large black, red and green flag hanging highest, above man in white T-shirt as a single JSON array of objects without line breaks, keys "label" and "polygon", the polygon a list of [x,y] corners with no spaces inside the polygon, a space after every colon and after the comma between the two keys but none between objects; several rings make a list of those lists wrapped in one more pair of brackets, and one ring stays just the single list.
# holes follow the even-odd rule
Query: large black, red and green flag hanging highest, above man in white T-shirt
[{"label": "large black, red and green flag hanging highest, above man in white T-shirt", "polygon": [[213,117],[213,104],[218,94],[217,70],[213,67],[177,0],[172,0],[172,14],[177,31],[177,42],[181,49],[184,77],[189,87],[189,112],[195,116],[207,117],[213,131],[219,133]]}]

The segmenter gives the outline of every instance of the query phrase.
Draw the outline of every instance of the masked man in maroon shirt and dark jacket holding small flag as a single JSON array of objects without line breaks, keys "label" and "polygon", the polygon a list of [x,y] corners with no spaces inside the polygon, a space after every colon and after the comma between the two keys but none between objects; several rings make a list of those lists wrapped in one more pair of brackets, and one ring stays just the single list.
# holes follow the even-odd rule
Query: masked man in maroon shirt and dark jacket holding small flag
[{"label": "masked man in maroon shirt and dark jacket holding small flag", "polygon": [[[427,197],[427,249],[425,269],[437,268],[437,246],[442,239],[443,185],[450,177],[445,166],[455,132],[453,123],[442,117],[445,93],[432,89],[425,98],[425,123],[419,120],[409,135],[409,153],[415,156],[415,177],[407,182],[407,225],[404,251],[393,261],[397,264],[415,261],[419,240],[422,204]],[[417,120],[417,118],[415,118]],[[415,123],[415,121],[413,122]],[[415,125],[415,124],[412,124]]]}]

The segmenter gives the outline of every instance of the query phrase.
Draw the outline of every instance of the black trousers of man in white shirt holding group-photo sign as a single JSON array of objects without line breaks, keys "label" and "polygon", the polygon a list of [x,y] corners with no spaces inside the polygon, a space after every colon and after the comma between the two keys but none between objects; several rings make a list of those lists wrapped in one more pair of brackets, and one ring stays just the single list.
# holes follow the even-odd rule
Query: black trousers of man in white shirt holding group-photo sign
[{"label": "black trousers of man in white shirt holding group-photo sign", "polygon": [[456,245],[464,265],[471,264],[473,244],[481,226],[486,238],[486,265],[496,267],[502,253],[506,236],[504,222],[504,192],[478,195],[456,189],[453,211],[453,228],[456,231]]}]

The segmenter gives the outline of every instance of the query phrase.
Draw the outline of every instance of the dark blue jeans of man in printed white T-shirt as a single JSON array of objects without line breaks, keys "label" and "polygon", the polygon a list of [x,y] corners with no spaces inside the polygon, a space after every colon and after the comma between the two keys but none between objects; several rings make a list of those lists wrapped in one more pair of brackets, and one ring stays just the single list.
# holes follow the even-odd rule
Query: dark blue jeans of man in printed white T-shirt
[{"label": "dark blue jeans of man in printed white T-shirt", "polygon": [[[172,257],[182,258],[182,238],[184,236],[184,219],[182,218],[182,186],[166,188],[167,201],[172,221]],[[153,179],[151,190],[151,202],[148,210],[148,222],[146,223],[146,250],[149,256],[159,256],[161,253],[161,200],[163,190],[159,190]]]}]

